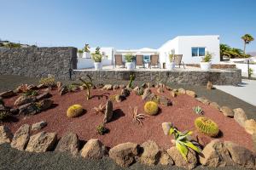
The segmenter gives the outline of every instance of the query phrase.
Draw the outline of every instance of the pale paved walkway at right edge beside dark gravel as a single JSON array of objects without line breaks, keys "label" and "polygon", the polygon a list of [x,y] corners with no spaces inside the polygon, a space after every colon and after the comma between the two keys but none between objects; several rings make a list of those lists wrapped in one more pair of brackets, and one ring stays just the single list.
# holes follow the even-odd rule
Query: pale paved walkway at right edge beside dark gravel
[{"label": "pale paved walkway at right edge beside dark gravel", "polygon": [[256,81],[243,79],[239,86],[214,86],[251,105],[256,105]]}]

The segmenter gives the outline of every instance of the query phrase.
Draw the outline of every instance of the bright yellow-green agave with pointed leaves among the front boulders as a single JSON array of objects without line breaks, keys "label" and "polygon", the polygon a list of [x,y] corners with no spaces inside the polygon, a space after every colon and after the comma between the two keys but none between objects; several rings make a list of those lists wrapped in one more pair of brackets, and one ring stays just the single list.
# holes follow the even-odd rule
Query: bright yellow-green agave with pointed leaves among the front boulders
[{"label": "bright yellow-green agave with pointed leaves among the front boulders", "polygon": [[188,132],[179,132],[177,128],[171,127],[169,131],[169,135],[174,136],[174,139],[172,140],[172,143],[175,144],[177,150],[181,153],[183,158],[187,160],[187,156],[189,153],[189,148],[192,150],[195,150],[197,153],[201,152],[201,148],[199,147],[199,144],[195,141],[190,141],[189,136],[192,134],[192,131]]}]

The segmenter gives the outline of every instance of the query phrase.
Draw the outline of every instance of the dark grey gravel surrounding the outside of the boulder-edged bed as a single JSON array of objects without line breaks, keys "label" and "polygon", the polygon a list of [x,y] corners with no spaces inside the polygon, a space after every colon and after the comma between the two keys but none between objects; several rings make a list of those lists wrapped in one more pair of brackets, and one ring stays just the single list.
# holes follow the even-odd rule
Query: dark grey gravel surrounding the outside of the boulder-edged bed
[{"label": "dark grey gravel surrounding the outside of the boulder-edged bed", "polygon": [[[62,81],[63,82],[63,81]],[[38,84],[38,78],[28,78],[28,77],[19,77],[19,76],[0,76],[0,92],[3,92],[7,89],[15,89],[21,83],[27,84]],[[69,81],[64,81],[63,83],[71,83]],[[99,82],[97,82],[99,83]],[[108,82],[105,82],[108,83]],[[116,82],[116,83],[127,83],[125,82]],[[135,82],[135,84],[141,84],[142,82]],[[207,90],[206,87],[198,87],[198,86],[182,86],[182,85],[173,85],[170,84],[172,88],[185,88],[191,89],[198,94],[198,96],[205,96],[207,99],[217,102],[219,105],[227,105],[230,108],[234,109],[237,107],[241,107],[244,111],[246,111],[248,118],[256,119],[256,107],[241,99],[237,99],[236,97],[226,94],[220,90]],[[99,161],[87,161],[82,159],[81,157],[72,157],[66,153],[57,153],[57,152],[46,152],[46,153],[29,153],[25,151],[19,151],[10,148],[9,144],[1,144],[0,145],[0,170],[25,170],[25,169],[111,169],[118,170],[123,169],[117,166],[112,160],[108,157],[103,158]],[[155,166],[155,167],[147,167],[143,166],[139,163],[135,163],[129,168],[125,169],[155,169],[155,170],[166,170],[166,169],[183,169],[180,167],[163,167],[163,166]],[[241,167],[218,167],[218,168],[210,168],[210,167],[197,167],[195,169],[227,169],[227,170],[236,170],[243,169]]]}]

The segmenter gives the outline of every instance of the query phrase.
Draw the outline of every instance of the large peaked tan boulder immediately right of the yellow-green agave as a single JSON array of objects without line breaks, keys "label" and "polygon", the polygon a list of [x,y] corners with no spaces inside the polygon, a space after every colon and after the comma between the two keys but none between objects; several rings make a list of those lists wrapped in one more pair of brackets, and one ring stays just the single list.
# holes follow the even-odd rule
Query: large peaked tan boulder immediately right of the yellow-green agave
[{"label": "large peaked tan boulder immediately right of the yellow-green agave", "polygon": [[218,139],[212,140],[201,152],[200,162],[209,167],[225,167],[233,165],[230,152]]}]

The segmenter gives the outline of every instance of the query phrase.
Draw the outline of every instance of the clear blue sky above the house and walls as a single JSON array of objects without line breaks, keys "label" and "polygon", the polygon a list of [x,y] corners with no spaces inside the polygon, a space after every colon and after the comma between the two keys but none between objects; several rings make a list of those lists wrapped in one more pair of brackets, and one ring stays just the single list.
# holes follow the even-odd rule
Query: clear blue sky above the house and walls
[{"label": "clear blue sky above the house and walls", "polygon": [[[179,35],[256,38],[255,0],[0,0],[0,38],[43,46],[159,48]],[[247,46],[256,51],[256,40]]]}]

